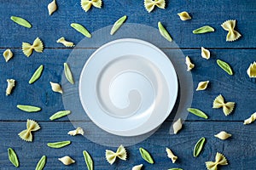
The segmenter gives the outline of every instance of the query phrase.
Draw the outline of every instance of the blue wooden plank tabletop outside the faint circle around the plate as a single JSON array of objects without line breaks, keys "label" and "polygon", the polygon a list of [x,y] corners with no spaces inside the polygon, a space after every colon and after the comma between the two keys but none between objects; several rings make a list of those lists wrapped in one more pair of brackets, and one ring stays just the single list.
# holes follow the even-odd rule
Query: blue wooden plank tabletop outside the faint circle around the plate
[{"label": "blue wooden plank tabletop outside the faint circle around the plate", "polygon": [[[150,14],[143,6],[143,0],[114,1],[104,0],[103,6],[91,8],[85,13],[79,1],[57,0],[58,10],[49,16],[44,1],[0,1],[0,52],[10,48],[14,58],[5,63],[0,59],[0,169],[15,169],[9,162],[7,149],[13,148],[20,160],[20,169],[34,169],[41,156],[47,156],[44,169],[86,169],[83,150],[90,152],[95,169],[131,169],[143,163],[144,169],[206,169],[205,161],[214,161],[216,152],[221,152],[229,161],[221,169],[256,169],[256,123],[243,125],[256,111],[256,81],[247,77],[247,67],[256,60],[256,1],[195,1],[166,0],[166,9],[155,8]],[[177,13],[188,11],[192,20],[181,21]],[[113,25],[114,21],[126,14],[127,23],[139,23],[157,28],[160,20],[170,31],[184,55],[189,55],[196,64],[192,71],[194,88],[202,80],[209,80],[211,86],[207,91],[196,92],[192,107],[207,112],[209,119],[189,114],[183,129],[177,135],[169,135],[172,119],[168,119],[150,138],[139,144],[127,147],[128,160],[116,161],[110,165],[105,160],[105,150],[116,150],[90,142],[83,136],[67,135],[73,125],[67,117],[49,122],[49,116],[55,111],[64,110],[60,94],[51,91],[49,81],[61,82],[63,63],[67,60],[72,48],[65,48],[55,41],[59,37],[77,44],[84,38],[74,31],[70,24],[80,23],[90,31]],[[18,26],[10,16],[20,16],[32,23],[32,28]],[[236,20],[236,30],[242,37],[236,42],[226,42],[227,31],[221,28],[225,20]],[[215,32],[194,35],[198,27],[209,25]],[[44,42],[44,53],[33,53],[30,58],[22,53],[21,42],[31,42],[40,37]],[[63,48],[64,47],[64,48]],[[210,49],[210,62],[201,59],[201,47]],[[95,47],[96,48],[96,47]],[[159,47],[164,48],[164,47]],[[92,48],[94,49],[94,48]],[[171,50],[164,48],[165,51]],[[216,65],[216,59],[227,61],[235,74],[230,77]],[[28,80],[38,65],[44,64],[44,73],[38,82],[30,85]],[[14,78],[16,87],[9,96],[5,95],[6,79]],[[224,116],[221,110],[212,109],[212,101],[218,94],[223,94],[228,101],[236,102],[236,109],[230,116]],[[16,108],[18,104],[39,105],[42,111],[26,113]],[[32,143],[20,139],[18,133],[26,128],[26,119],[37,121],[42,127],[34,133]],[[213,135],[227,131],[232,137],[220,140]],[[201,156],[193,157],[195,143],[201,137],[207,139]],[[46,144],[52,141],[71,140],[72,144],[59,150],[49,148]],[[154,157],[153,165],[143,161],[139,147],[147,149]],[[171,148],[178,156],[177,163],[166,156],[166,147]],[[76,163],[64,166],[57,158],[71,156]]]}]

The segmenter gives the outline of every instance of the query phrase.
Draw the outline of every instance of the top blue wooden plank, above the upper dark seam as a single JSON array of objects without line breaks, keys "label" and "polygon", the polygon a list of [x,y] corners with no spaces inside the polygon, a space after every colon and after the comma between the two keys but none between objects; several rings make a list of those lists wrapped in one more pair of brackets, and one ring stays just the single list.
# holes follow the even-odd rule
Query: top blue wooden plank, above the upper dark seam
[{"label": "top blue wooden plank, above the upper dark seam", "polygon": [[[84,25],[90,32],[104,26],[113,25],[115,20],[126,14],[127,23],[139,23],[157,28],[161,21],[170,31],[173,39],[182,48],[255,48],[256,41],[256,3],[253,0],[204,1],[168,1],[166,9],[155,8],[150,14],[143,7],[143,1],[103,1],[102,9],[91,8],[85,13],[79,1],[59,0],[58,10],[49,16],[47,5],[49,1],[1,1],[0,30],[1,48],[20,48],[21,42],[31,42],[41,37],[47,48],[62,48],[55,41],[64,36],[67,40],[78,43],[84,36],[70,27],[73,22]],[[22,8],[20,8],[22,7]],[[188,11],[192,20],[182,21],[177,13]],[[32,23],[27,29],[9,20],[11,15],[25,18]],[[237,20],[237,30],[241,39],[236,42],[226,42],[227,31],[221,28],[225,20]],[[215,32],[204,35],[193,35],[198,27],[209,25]]]}]

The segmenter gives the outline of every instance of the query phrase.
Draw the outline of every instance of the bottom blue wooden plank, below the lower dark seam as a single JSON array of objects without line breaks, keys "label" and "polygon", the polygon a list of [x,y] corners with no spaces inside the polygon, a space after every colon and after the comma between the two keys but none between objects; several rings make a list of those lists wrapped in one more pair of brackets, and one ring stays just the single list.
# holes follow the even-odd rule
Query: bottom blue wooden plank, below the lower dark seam
[{"label": "bottom blue wooden plank, below the lower dark seam", "polygon": [[[7,149],[12,147],[20,160],[20,169],[32,169],[36,167],[41,156],[48,157],[45,169],[85,169],[83,150],[87,150],[92,156],[95,169],[131,169],[133,165],[143,163],[144,169],[168,169],[181,167],[183,169],[206,169],[205,161],[214,161],[216,152],[223,153],[227,157],[229,165],[221,169],[254,169],[256,157],[255,124],[244,126],[242,122],[185,122],[183,129],[177,135],[169,135],[169,122],[166,122],[150,138],[142,143],[127,147],[128,160],[116,161],[113,165],[105,160],[105,150],[116,150],[113,147],[94,144],[83,136],[69,136],[67,132],[73,129],[70,122],[38,122],[42,127],[33,133],[33,142],[27,143],[17,135],[26,127],[26,122],[1,122],[0,133],[0,162],[1,169],[14,168],[9,162]],[[84,122],[87,123],[87,122]],[[86,129],[85,135],[86,135]],[[225,130],[232,134],[227,140],[213,137],[214,134]],[[201,137],[207,142],[201,155],[193,157],[195,143]],[[53,141],[71,140],[72,144],[61,148],[52,149],[46,144]],[[143,147],[153,156],[153,165],[143,161],[139,154],[139,147]],[[177,163],[166,156],[166,147],[169,147],[177,155]],[[65,167],[57,160],[61,156],[71,156],[75,164]]]}]

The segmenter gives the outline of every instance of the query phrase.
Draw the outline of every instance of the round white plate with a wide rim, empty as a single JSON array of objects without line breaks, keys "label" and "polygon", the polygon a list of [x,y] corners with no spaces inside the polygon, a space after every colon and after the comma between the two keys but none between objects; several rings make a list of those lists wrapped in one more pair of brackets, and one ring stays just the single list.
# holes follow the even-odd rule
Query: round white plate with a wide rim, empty
[{"label": "round white plate with a wide rim, empty", "polygon": [[138,39],[98,48],[84,65],[79,97],[98,127],[137,136],[160,126],[177,99],[177,75],[166,54]]}]

